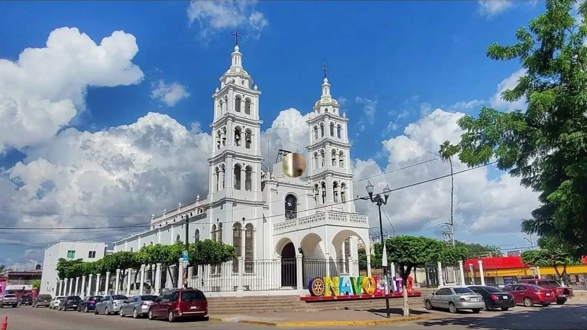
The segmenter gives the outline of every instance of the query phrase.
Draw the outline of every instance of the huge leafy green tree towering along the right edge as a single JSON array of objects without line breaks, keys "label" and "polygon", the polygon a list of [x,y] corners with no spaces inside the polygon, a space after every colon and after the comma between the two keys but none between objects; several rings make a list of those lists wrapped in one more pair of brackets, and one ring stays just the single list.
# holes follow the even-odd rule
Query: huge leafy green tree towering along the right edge
[{"label": "huge leafy green tree towering along the right edge", "polygon": [[541,205],[522,222],[522,231],[560,233],[578,257],[587,254],[587,2],[548,0],[545,6],[528,28],[518,29],[517,43],[487,49],[489,58],[518,59],[525,69],[501,96],[525,100],[527,110],[484,107],[477,118],[461,117],[459,158],[470,167],[497,159],[500,170],[539,191]]}]

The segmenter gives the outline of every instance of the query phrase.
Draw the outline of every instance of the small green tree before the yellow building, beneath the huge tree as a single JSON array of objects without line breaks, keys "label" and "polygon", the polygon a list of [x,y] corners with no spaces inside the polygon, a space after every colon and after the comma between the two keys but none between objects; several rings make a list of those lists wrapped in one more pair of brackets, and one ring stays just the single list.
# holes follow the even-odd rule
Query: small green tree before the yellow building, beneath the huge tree
[{"label": "small green tree before the yellow building, beneath the huge tree", "polygon": [[522,262],[534,267],[552,267],[561,281],[566,280],[567,266],[581,264],[581,258],[570,254],[564,241],[557,240],[555,237],[540,238],[538,246],[539,250],[522,252],[520,255]]}]

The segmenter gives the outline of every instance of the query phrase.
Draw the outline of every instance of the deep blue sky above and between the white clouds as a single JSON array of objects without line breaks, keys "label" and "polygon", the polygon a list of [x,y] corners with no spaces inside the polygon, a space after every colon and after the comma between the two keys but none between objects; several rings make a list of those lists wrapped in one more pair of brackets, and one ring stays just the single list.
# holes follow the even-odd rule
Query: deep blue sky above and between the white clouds
[{"label": "deep blue sky above and between the white clouds", "polygon": [[[185,127],[198,122],[207,132],[211,93],[230,63],[230,32],[238,28],[244,66],[263,92],[264,130],[284,109],[293,107],[302,115],[311,111],[326,59],[332,93],[346,100],[343,110],[351,120],[352,157],[375,158],[384,170],[383,140],[404,134],[408,124],[436,108],[475,115],[481,105],[490,105],[498,84],[519,69],[515,61],[486,58],[485,49],[496,41],[514,42],[515,30],[543,11],[543,5],[495,2],[502,4],[249,2],[239,14],[249,21],[252,13],[261,14],[266,24],[256,29],[247,25],[247,19],[227,26],[205,15],[201,22],[190,23],[187,1],[0,2],[0,58],[14,61],[25,48],[43,48],[49,33],[65,26],[78,28],[96,43],[122,30],[136,38],[139,52],[132,62],[143,71],[144,80],[127,86],[89,86],[85,111],[78,107],[78,115],[66,127],[99,132],[157,112]],[[184,86],[189,96],[173,106],[151,97],[160,80]],[[472,101],[473,106],[457,109],[459,102]],[[32,149],[39,147],[4,150],[0,166],[10,169]],[[498,180],[500,175],[490,170],[488,179]],[[523,241],[518,236],[495,236],[496,244]],[[495,237],[481,240],[495,242]]]}]

